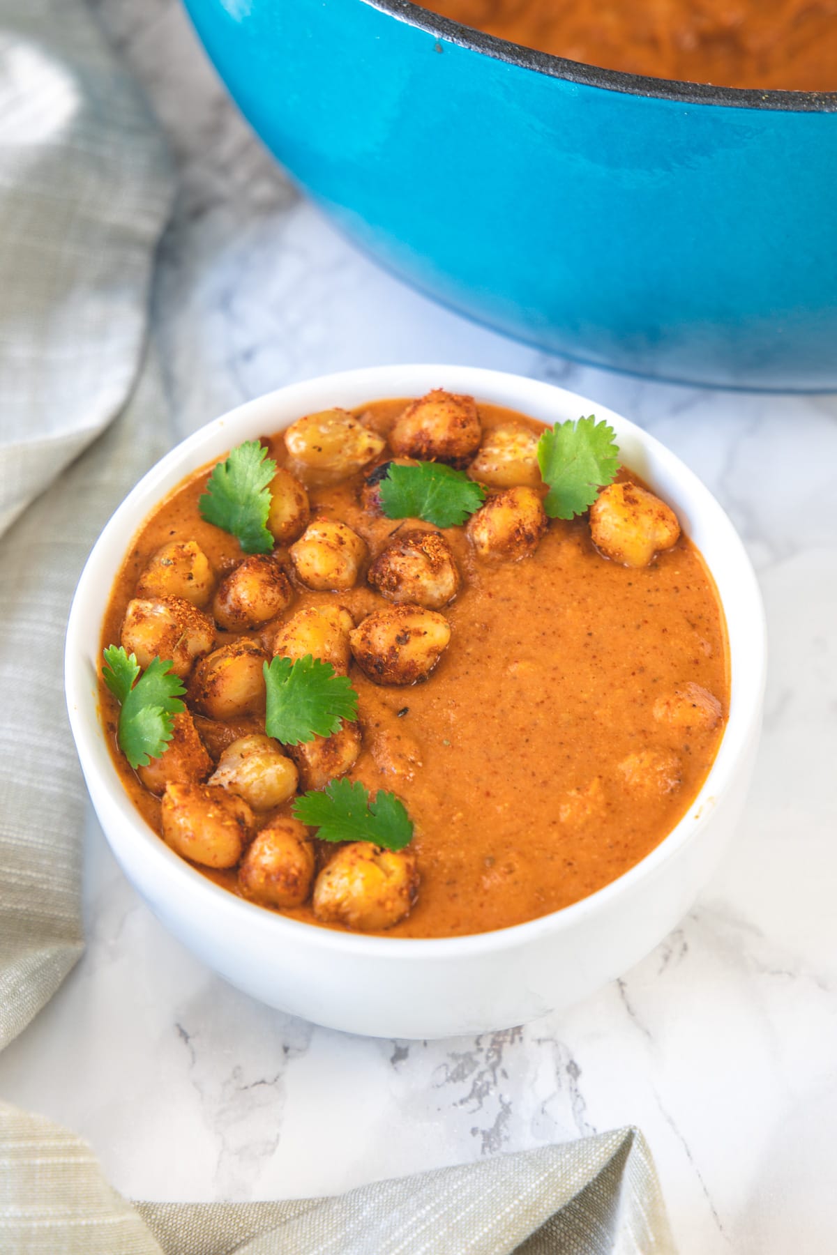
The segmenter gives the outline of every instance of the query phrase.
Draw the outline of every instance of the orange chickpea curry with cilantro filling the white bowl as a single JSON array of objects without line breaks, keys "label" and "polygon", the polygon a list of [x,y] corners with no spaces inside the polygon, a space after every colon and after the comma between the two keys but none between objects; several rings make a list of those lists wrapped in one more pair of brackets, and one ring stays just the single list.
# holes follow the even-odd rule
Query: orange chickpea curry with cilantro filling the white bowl
[{"label": "orange chickpea curry with cilantro filling the white bowl", "polygon": [[309,414],[146,521],[103,625],[139,812],[311,924],[482,932],[620,876],[686,812],[723,612],[595,418],[442,390]]}]

